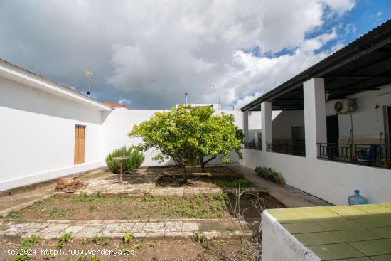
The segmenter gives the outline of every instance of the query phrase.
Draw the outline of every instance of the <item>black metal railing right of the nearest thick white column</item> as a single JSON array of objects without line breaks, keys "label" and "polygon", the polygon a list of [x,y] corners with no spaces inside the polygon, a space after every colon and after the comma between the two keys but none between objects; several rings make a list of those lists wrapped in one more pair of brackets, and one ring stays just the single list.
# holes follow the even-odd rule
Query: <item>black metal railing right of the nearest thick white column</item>
[{"label": "black metal railing right of the nearest thick white column", "polygon": [[390,151],[383,144],[318,143],[318,159],[391,169]]}]

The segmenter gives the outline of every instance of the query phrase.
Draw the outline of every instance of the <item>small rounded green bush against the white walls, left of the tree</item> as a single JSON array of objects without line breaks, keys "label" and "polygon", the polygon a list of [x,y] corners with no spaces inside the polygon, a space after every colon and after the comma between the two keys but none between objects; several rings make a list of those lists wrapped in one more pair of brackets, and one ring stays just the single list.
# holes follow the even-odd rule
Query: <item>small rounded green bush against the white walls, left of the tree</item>
[{"label": "small rounded green bush against the white walls, left of the tree", "polygon": [[118,160],[113,159],[117,156],[129,156],[129,159],[124,160],[124,169],[123,171],[131,171],[132,169],[138,168],[144,161],[144,155],[136,149],[132,147],[120,147],[119,149],[115,149],[107,155],[106,164],[109,167],[110,171],[113,173],[119,173],[121,165]]}]

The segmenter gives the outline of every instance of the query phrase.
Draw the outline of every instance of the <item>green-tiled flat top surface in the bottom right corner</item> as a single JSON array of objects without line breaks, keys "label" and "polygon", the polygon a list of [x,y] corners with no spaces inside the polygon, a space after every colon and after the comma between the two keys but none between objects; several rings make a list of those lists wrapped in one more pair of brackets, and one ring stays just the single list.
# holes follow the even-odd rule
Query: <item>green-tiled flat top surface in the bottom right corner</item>
[{"label": "green-tiled flat top surface in the bottom right corner", "polygon": [[321,260],[391,260],[391,203],[267,212]]}]

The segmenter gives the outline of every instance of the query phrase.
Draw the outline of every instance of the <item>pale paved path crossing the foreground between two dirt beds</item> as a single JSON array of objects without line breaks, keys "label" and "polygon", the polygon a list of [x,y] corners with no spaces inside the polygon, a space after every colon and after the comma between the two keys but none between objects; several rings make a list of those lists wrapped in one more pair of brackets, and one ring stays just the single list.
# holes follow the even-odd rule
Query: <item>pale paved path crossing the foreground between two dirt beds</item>
[{"label": "pale paved path crossing the foreground between two dirt beds", "polygon": [[[259,221],[251,222],[259,225]],[[244,229],[240,229],[240,227]],[[107,238],[122,238],[131,232],[135,238],[192,238],[196,232],[206,238],[229,238],[241,233],[250,235],[245,221],[235,220],[112,220],[112,221],[21,221],[1,220],[0,235],[26,238],[36,234],[40,238],[60,238],[64,233],[73,233],[75,238],[93,238],[102,235]],[[242,232],[241,232],[242,231]]]}]

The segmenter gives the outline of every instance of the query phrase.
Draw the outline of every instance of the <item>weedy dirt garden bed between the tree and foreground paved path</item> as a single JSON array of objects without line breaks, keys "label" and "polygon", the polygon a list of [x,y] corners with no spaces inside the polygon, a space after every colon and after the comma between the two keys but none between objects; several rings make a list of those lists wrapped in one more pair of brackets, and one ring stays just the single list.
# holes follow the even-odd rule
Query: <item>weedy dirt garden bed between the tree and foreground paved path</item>
[{"label": "weedy dirt garden bed between the tree and foreground paved path", "polygon": [[[269,194],[263,194],[262,208],[281,208],[284,204]],[[244,195],[240,209],[245,218],[260,218],[252,207],[255,196]],[[167,218],[230,218],[235,197],[220,193],[217,196],[197,194],[194,198],[181,196],[53,196],[38,201],[8,218],[20,220],[133,220]],[[232,204],[231,204],[232,203]],[[242,214],[242,211],[240,211]]]}]

